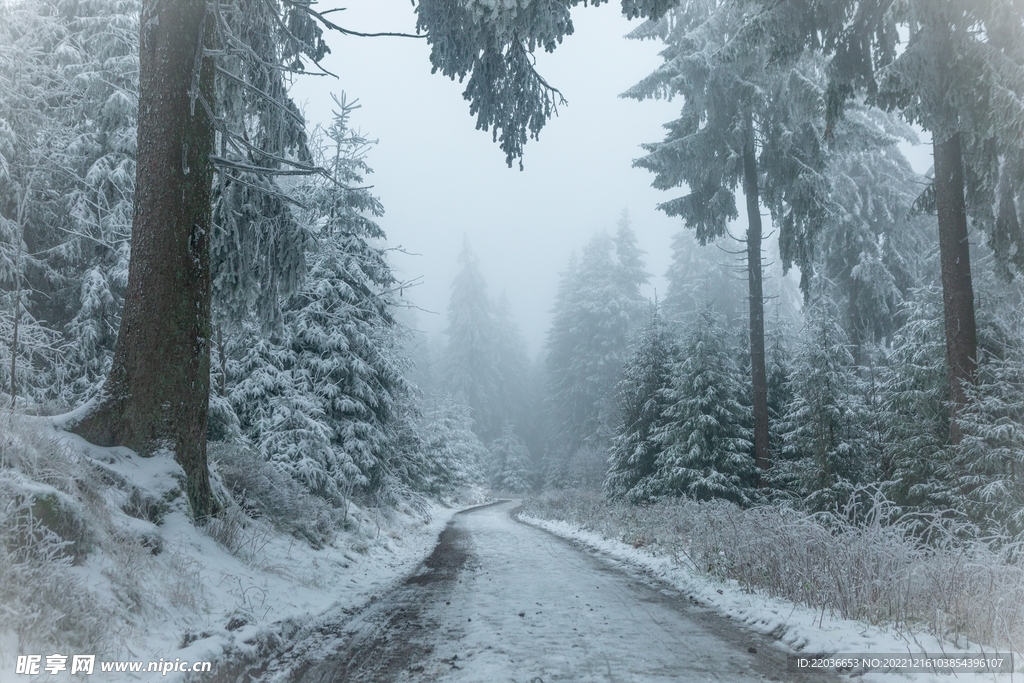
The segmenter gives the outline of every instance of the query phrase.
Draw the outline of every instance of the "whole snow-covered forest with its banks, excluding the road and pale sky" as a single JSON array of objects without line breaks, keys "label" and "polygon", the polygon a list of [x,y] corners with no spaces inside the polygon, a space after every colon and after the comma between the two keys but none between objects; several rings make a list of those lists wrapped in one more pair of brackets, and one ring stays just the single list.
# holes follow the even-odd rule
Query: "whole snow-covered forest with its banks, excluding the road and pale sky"
[{"label": "whole snow-covered forest with its banks, excluding the road and pale sky", "polygon": [[534,53],[587,4],[419,0],[414,34],[364,36],[306,0],[0,0],[0,680],[37,649],[258,661],[358,603],[350,564],[383,591],[502,497],[1024,651],[1024,8],[623,0],[659,63],[621,96],[677,112],[631,171],[673,220],[667,271],[605,216],[536,350],[463,237],[425,332],[331,46],[424,41],[528,174],[566,106]]}]

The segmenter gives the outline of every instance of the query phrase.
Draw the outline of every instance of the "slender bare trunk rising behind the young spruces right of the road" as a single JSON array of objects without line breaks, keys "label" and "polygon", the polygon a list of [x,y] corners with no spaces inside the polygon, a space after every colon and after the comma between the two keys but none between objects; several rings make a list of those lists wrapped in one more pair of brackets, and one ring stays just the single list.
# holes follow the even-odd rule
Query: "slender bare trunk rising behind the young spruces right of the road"
[{"label": "slender bare trunk rising behind the young spruces right of the road", "polygon": [[751,384],[754,400],[754,459],[764,472],[771,465],[768,445],[768,372],[765,369],[765,300],[761,269],[761,201],[758,160],[754,150],[754,123],[746,119],[743,142],[743,195],[746,197],[746,280],[751,306]]}]

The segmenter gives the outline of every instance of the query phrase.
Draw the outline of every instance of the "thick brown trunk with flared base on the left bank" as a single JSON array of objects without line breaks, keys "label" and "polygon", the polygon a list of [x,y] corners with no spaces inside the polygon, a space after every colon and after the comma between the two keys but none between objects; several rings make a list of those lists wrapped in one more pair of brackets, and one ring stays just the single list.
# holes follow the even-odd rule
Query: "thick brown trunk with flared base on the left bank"
[{"label": "thick brown trunk with flared base on the left bank", "polygon": [[[173,449],[197,517],[213,510],[210,385],[212,32],[206,0],[145,0],[139,18],[138,145],[131,261],[114,364],[76,431],[140,454]],[[197,73],[198,70],[198,73]]]}]

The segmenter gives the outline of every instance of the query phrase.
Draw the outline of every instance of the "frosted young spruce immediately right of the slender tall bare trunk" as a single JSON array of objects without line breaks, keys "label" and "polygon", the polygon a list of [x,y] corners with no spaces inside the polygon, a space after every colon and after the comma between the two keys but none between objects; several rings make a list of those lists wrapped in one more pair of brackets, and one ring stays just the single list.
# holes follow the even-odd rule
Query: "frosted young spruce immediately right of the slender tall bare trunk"
[{"label": "frosted young spruce immediately right of the slender tall bare trunk", "polygon": [[873,480],[876,439],[860,384],[835,303],[819,297],[794,362],[782,457],[773,468],[775,484],[812,509],[843,505],[854,486]]}]

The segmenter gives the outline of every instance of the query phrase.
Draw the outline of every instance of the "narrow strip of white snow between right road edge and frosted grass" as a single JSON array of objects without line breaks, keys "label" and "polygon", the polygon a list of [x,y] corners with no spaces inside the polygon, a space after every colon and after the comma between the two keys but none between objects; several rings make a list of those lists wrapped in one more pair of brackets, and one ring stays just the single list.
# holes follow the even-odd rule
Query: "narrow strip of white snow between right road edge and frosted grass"
[{"label": "narrow strip of white snow between right road edge and frosted grass", "polygon": [[[983,651],[977,646],[970,650],[956,649],[927,634],[886,630],[860,622],[840,620],[791,602],[764,597],[740,588],[735,582],[721,582],[695,573],[672,558],[651,554],[642,548],[634,548],[564,521],[538,519],[526,515],[520,515],[519,519],[571,541],[578,547],[594,553],[609,565],[617,566],[625,572],[647,577],[648,581],[664,583],[680,591],[682,595],[687,596],[694,603],[710,608],[721,617],[741,624],[744,631],[770,637],[774,641],[773,647],[778,651],[839,656],[854,653],[898,653],[912,656],[923,652],[932,656],[943,653],[955,656]],[[1018,656],[1017,661],[1020,660]],[[1016,668],[1019,670],[1020,665],[1018,664]],[[949,681],[1010,683],[1020,680],[1021,677],[1019,674],[1016,678],[1012,674],[963,673],[954,677],[928,673],[896,674],[881,671],[854,671],[851,678],[867,683],[906,681],[913,681],[913,683],[936,683],[938,681],[943,683]],[[783,675],[781,680],[792,679]]]}]

